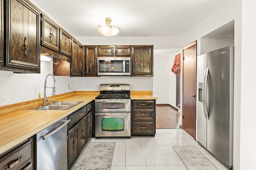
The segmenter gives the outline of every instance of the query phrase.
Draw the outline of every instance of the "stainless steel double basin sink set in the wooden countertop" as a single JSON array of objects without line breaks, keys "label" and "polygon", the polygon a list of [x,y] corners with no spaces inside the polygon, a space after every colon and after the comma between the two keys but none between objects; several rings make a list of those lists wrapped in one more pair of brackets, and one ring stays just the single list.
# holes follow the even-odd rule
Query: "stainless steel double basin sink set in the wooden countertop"
[{"label": "stainless steel double basin sink set in the wooden countertop", "polygon": [[42,110],[42,111],[57,111],[57,110],[68,110],[80,103],[82,103],[83,101],[61,101],[61,102],[55,102],[52,104],[48,104],[46,106],[36,106],[36,107],[32,107],[29,109],[25,109],[25,110]]}]

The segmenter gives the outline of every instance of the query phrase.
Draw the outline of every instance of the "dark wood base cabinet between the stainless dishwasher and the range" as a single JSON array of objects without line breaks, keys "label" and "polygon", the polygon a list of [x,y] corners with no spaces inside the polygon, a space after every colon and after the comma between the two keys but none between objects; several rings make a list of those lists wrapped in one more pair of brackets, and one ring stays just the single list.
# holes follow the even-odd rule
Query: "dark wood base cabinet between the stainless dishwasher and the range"
[{"label": "dark wood base cabinet between the stainless dishwasher and the range", "polygon": [[70,170],[92,136],[92,102],[68,115],[68,119],[70,119],[68,123],[68,170]]}]

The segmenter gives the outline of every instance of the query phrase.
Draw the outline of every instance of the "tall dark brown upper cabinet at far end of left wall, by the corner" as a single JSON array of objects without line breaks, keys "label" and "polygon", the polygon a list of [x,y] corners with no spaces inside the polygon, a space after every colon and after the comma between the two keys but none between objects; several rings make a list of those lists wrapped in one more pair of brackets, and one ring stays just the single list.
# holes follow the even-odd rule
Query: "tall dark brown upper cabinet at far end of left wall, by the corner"
[{"label": "tall dark brown upper cabinet at far end of left wall, by the corner", "polygon": [[72,38],[72,57],[70,76],[83,76],[83,51],[84,47]]}]

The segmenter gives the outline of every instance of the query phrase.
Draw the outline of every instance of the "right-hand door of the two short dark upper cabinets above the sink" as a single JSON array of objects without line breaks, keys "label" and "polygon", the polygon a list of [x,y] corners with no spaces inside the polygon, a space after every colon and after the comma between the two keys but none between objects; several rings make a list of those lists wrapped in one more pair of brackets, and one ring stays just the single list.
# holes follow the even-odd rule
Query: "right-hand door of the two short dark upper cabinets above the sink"
[{"label": "right-hand door of the two short dark upper cabinets above the sink", "polygon": [[60,53],[71,57],[72,37],[69,33],[60,28]]}]

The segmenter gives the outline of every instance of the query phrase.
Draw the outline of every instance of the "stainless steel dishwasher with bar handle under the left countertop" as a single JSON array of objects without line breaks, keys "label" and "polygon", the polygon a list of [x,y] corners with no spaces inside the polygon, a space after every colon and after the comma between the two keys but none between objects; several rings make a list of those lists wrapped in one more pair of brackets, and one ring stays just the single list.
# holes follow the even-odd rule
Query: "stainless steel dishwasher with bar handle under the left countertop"
[{"label": "stainless steel dishwasher with bar handle under the left countertop", "polygon": [[67,117],[36,134],[37,170],[67,170]]}]

